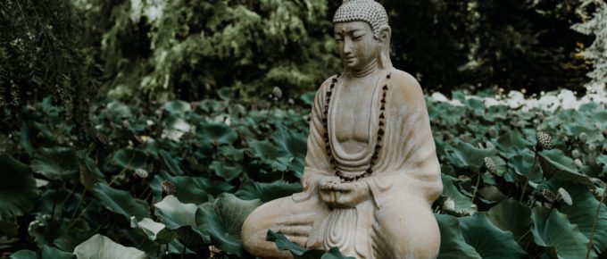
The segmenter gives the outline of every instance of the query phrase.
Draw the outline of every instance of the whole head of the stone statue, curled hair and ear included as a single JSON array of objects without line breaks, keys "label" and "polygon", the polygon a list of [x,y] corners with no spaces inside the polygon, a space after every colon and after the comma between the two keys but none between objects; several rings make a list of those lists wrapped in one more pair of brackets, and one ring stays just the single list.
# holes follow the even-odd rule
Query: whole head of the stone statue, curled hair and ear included
[{"label": "whole head of the stone statue, curled hair and ear included", "polygon": [[362,69],[369,63],[392,68],[391,29],[381,4],[374,0],[344,0],[333,16],[333,24],[346,70]]}]

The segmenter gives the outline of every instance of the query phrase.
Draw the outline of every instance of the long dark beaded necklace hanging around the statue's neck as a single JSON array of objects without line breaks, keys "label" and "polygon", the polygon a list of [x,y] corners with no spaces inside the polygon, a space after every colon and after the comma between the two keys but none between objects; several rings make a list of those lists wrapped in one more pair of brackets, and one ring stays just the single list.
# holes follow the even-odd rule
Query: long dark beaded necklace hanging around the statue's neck
[{"label": "long dark beaded necklace hanging around the statue's neck", "polygon": [[[376,164],[376,162],[378,160],[379,150],[381,149],[381,145],[379,143],[381,142],[381,139],[384,137],[384,133],[386,133],[386,130],[384,129],[384,127],[386,126],[386,116],[384,115],[384,112],[386,112],[386,96],[387,96],[388,88],[387,88],[387,84],[385,84],[384,87],[382,88],[381,106],[379,108],[379,120],[378,120],[379,121],[378,122],[378,138],[377,138],[377,142],[375,145],[375,151],[373,152],[373,155],[371,156],[369,168],[360,175],[345,176],[342,173],[342,171],[337,170],[335,157],[333,156],[330,143],[328,142],[328,104],[331,103],[331,96],[333,95],[333,88],[335,88],[335,85],[337,84],[337,79],[339,79],[339,77],[341,75],[342,74],[339,73],[339,74],[337,74],[337,76],[335,78],[333,78],[331,80],[331,86],[330,86],[330,88],[328,88],[327,95],[325,97],[325,110],[323,112],[324,116],[322,118],[322,127],[325,129],[325,134],[323,135],[323,137],[324,137],[325,144],[326,144],[325,148],[327,149],[328,161],[333,166],[333,170],[335,170],[335,174],[339,177],[339,179],[341,179],[344,182],[353,182],[353,181],[360,180],[366,176],[369,176],[371,173],[373,173],[373,166]],[[392,72],[389,72],[386,75],[386,78],[390,79],[391,75],[392,75]]]}]

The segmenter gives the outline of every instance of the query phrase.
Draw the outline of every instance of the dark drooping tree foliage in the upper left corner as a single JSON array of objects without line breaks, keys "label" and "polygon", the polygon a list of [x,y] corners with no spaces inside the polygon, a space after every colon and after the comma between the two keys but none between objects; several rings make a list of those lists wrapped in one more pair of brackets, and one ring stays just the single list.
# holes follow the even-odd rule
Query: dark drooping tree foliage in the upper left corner
[{"label": "dark drooping tree foliage in the upper left corner", "polygon": [[[86,135],[88,106],[101,70],[70,0],[0,2],[0,131],[18,129],[18,111],[53,96]],[[78,96],[78,97],[76,97]]]}]

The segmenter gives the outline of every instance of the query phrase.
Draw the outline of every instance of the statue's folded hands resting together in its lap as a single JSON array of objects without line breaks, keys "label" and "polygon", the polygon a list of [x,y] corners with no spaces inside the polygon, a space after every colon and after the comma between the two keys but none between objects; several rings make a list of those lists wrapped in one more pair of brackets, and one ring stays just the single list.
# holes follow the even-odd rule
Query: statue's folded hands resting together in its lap
[{"label": "statue's folded hands resting together in its lap", "polygon": [[337,177],[319,181],[320,199],[330,207],[352,208],[370,196],[366,180],[341,182]]}]

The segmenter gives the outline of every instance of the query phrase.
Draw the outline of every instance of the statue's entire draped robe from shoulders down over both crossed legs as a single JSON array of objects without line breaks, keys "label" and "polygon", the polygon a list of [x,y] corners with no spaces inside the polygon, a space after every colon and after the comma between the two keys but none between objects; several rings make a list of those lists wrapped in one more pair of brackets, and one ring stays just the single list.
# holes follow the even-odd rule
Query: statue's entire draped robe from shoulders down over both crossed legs
[{"label": "statue's entire draped robe from shoulders down over both crossed legs", "polygon": [[[371,96],[360,96],[372,101],[366,115],[370,118],[354,123],[355,127],[368,128],[369,135],[366,150],[356,154],[348,154],[337,141],[343,88],[337,83],[328,106],[328,140],[337,168],[345,173],[365,171],[376,144],[382,147],[373,173],[359,180],[370,190],[368,199],[353,208],[330,208],[320,200],[319,180],[335,175],[326,151],[322,119],[328,88],[336,77],[327,79],[315,96],[303,192],[256,209],[243,228],[245,248],[262,258],[289,258],[271,251],[271,244],[260,240],[270,229],[285,232],[287,238],[307,248],[338,246],[345,255],[356,258],[436,258],[440,234],[430,206],[443,187],[424,96],[411,75],[392,70],[391,79],[379,82]],[[376,143],[384,84],[388,86],[386,133]]]}]

